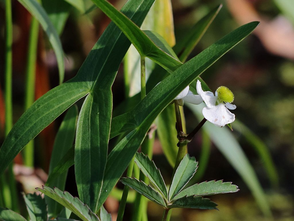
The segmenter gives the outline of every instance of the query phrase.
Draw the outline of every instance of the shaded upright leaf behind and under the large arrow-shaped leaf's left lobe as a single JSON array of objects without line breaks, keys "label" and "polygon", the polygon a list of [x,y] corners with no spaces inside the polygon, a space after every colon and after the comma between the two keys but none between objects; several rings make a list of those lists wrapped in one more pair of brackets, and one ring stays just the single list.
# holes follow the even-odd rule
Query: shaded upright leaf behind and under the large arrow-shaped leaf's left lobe
[{"label": "shaded upright leaf behind and under the large arrow-shaped leaf's left lobe", "polygon": [[[72,146],[76,134],[77,120],[78,109],[77,106],[74,105],[68,109],[55,137],[49,166],[49,177],[47,179],[47,183],[51,182],[50,185],[48,185],[51,188],[57,187],[61,190],[64,190],[65,188],[68,171],[67,168],[71,166],[70,164],[68,164],[68,159],[69,157],[74,156],[74,149],[72,148]],[[55,170],[58,164],[65,169],[62,173],[60,173],[60,170]],[[61,167],[58,168],[60,169]],[[52,172],[56,174],[54,179],[52,179]],[[50,198],[46,198],[46,202],[48,204],[49,215],[56,217],[61,212],[63,207]]]}]

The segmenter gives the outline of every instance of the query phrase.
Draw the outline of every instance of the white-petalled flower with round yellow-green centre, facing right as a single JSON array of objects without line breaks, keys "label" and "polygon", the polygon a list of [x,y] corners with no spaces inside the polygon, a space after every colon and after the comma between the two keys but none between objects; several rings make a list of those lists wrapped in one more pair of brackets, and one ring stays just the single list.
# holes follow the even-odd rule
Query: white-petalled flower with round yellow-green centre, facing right
[{"label": "white-petalled flower with round yellow-green centre, facing right", "polygon": [[[207,107],[203,108],[202,114],[208,121],[219,127],[235,121],[235,114],[228,110],[236,109],[236,105],[230,104],[234,100],[234,95],[228,88],[219,87],[214,96],[210,91],[203,91],[201,82],[197,80],[196,90],[206,103]],[[216,105],[217,101],[218,105]]]}]

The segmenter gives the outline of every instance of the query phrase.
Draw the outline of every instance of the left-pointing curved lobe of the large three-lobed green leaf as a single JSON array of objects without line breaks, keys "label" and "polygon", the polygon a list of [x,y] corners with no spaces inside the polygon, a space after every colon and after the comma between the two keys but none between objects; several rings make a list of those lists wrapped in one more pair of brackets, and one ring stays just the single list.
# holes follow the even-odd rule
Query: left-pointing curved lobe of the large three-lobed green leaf
[{"label": "left-pointing curved lobe of the large three-lobed green leaf", "polygon": [[88,93],[87,84],[75,78],[53,88],[19,118],[0,149],[0,174],[14,157],[73,103]]}]

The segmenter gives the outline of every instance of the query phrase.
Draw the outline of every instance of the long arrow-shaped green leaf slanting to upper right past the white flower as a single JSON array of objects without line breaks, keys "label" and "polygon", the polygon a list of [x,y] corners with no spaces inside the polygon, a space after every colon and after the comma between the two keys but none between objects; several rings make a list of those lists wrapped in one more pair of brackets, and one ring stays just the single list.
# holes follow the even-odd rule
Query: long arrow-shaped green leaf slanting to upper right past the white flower
[{"label": "long arrow-shaped green leaf slanting to upper right past the white flower", "polygon": [[258,24],[259,22],[245,24],[226,35],[159,83],[132,111],[112,119],[110,137],[123,131],[132,131],[108,155],[99,205],[106,200],[109,191],[123,174],[152,122],[163,108],[225,52],[250,34]]}]

